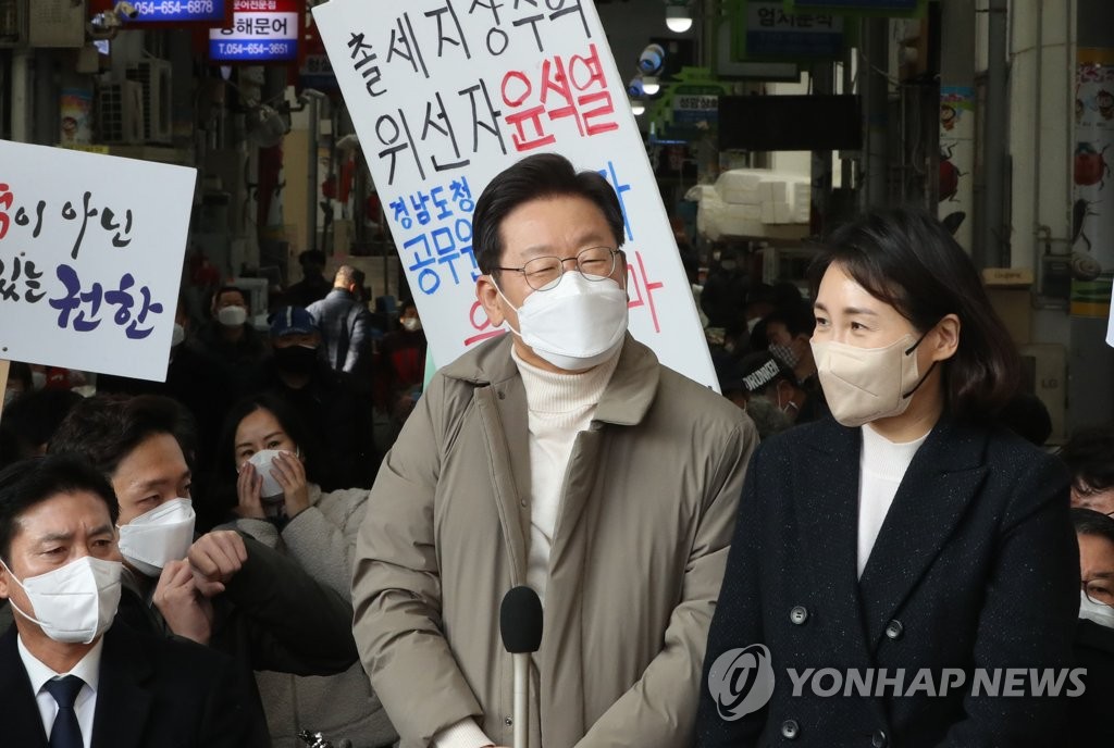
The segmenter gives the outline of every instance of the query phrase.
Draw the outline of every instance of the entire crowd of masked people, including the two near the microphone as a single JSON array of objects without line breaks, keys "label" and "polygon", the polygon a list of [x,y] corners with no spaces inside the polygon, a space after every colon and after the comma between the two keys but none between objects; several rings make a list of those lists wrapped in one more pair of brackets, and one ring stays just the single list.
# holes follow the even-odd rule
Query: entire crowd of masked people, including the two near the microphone
[{"label": "entire crowd of masked people, including the two near the microphone", "polygon": [[[235,286],[196,329],[179,306],[165,383],[13,364],[13,745],[510,745],[516,585],[531,746],[1110,745],[1114,427],[1045,446],[947,230],[863,216],[805,293],[721,252],[693,282],[722,395],[627,332],[624,234],[594,171],[498,175],[476,293],[508,334],[428,388],[413,304],[384,329],[315,252],[266,329]],[[968,687],[829,698],[810,668]],[[1086,688],[969,687],[1018,668]]]}]

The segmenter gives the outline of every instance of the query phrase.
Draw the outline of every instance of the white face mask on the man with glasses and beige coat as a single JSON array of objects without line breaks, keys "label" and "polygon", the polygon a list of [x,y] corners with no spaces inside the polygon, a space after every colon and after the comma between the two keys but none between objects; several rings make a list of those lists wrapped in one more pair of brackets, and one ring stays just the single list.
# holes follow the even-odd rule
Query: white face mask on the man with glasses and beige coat
[{"label": "white face mask on the man with glasses and beige coat", "polygon": [[[502,291],[499,295],[515,308]],[[610,358],[627,328],[626,291],[610,278],[588,280],[576,270],[565,273],[556,288],[535,291],[515,311],[520,329],[511,332],[541,358],[568,372]]]}]

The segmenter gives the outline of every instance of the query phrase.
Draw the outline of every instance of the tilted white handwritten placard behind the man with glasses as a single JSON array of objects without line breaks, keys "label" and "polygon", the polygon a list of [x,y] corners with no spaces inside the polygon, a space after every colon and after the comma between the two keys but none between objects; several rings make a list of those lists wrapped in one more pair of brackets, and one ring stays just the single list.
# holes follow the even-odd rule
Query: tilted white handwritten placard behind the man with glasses
[{"label": "tilted white handwritten placard behind the man with glasses", "polygon": [[590,1],[330,0],[313,17],[438,365],[505,332],[476,301],[476,199],[515,161],[553,151],[598,170],[619,197],[631,332],[666,366],[719,390]]}]

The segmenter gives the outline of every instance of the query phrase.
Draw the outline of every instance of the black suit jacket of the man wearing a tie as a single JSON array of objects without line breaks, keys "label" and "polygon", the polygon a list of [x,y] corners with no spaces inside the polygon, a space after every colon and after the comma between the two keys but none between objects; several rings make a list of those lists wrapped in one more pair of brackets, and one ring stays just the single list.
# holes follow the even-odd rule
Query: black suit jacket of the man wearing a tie
[{"label": "black suit jacket of the man wearing a tie", "polygon": [[[105,632],[92,748],[241,748],[245,699],[232,660],[185,640],[157,639],[116,621]],[[47,748],[16,627],[0,638],[0,744]],[[265,742],[254,744],[264,748]]]}]

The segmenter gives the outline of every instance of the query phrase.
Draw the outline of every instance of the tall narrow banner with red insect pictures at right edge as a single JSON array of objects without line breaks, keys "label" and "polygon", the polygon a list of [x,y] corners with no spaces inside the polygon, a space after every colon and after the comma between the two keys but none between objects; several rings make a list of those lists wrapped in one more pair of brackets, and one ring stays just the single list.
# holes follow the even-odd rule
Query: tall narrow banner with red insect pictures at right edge
[{"label": "tall narrow banner with red insect pictures at right edge", "polygon": [[1081,48],[1072,159],[1072,314],[1105,317],[1114,278],[1114,50]]}]

